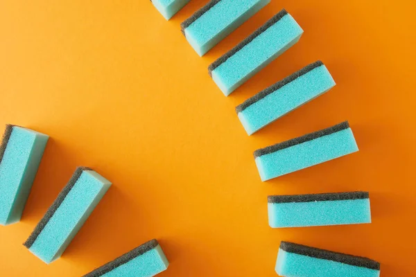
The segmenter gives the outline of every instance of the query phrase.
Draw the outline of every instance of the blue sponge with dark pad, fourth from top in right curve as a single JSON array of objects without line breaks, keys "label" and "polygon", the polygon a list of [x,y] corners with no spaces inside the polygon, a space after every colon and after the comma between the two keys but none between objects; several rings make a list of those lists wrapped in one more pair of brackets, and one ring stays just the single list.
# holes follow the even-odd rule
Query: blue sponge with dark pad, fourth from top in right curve
[{"label": "blue sponge with dark pad, fourth from top in right curve", "polygon": [[314,62],[245,100],[236,112],[250,135],[333,86],[335,82],[324,64]]}]

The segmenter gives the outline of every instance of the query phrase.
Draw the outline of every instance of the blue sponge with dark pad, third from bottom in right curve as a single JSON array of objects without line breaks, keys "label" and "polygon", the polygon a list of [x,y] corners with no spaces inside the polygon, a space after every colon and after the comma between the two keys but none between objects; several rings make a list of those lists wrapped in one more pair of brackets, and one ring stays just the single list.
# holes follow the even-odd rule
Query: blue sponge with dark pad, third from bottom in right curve
[{"label": "blue sponge with dark pad, third from bottom in right curve", "polygon": [[347,121],[254,151],[262,181],[358,151]]}]

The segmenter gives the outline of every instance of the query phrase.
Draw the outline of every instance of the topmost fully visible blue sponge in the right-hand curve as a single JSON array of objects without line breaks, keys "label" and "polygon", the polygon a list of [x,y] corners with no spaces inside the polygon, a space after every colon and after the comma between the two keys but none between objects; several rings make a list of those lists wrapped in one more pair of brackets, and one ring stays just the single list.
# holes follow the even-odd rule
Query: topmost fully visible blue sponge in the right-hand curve
[{"label": "topmost fully visible blue sponge in the right-hand curve", "polygon": [[228,96],[252,75],[299,41],[302,28],[281,10],[257,31],[220,57],[208,68],[209,75]]}]

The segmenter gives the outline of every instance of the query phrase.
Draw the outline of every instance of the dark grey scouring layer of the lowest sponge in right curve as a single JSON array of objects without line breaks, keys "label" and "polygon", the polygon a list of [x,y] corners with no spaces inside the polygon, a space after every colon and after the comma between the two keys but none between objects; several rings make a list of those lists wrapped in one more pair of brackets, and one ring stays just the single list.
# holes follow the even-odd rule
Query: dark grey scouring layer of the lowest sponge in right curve
[{"label": "dark grey scouring layer of the lowest sponge in right curve", "polygon": [[346,265],[354,265],[356,267],[366,267],[368,269],[380,270],[380,263],[376,262],[375,260],[370,260],[369,258],[352,256],[314,247],[306,247],[304,245],[295,244],[293,242],[281,242],[280,249],[286,252],[309,256],[312,258],[333,260],[334,262],[342,262]]}]

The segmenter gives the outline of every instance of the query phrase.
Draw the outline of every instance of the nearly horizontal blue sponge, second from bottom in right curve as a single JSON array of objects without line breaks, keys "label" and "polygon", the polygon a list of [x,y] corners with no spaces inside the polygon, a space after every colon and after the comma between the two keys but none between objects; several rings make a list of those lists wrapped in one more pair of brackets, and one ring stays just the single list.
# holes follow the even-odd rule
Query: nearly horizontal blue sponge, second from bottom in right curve
[{"label": "nearly horizontal blue sponge, second from bottom in right curve", "polygon": [[268,197],[272,228],[371,223],[367,192]]}]

